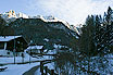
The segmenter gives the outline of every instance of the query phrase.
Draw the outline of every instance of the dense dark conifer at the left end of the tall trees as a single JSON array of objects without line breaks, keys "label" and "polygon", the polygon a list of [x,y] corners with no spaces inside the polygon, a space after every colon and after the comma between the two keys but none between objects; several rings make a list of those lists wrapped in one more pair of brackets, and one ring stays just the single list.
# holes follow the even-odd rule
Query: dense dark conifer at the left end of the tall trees
[{"label": "dense dark conifer at the left end of the tall trees", "polygon": [[80,37],[80,50],[87,55],[93,55],[95,50],[95,17],[93,15],[87,17],[86,24],[81,28],[83,34]]}]

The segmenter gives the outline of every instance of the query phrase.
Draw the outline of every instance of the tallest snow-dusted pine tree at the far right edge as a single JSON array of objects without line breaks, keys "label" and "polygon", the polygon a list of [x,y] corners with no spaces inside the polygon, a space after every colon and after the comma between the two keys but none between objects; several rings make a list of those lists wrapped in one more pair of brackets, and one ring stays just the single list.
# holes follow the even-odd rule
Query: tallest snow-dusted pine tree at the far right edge
[{"label": "tallest snow-dusted pine tree at the far right edge", "polygon": [[106,16],[105,16],[105,32],[104,32],[104,40],[105,40],[105,51],[110,50],[110,43],[113,39],[113,10],[109,7]]}]

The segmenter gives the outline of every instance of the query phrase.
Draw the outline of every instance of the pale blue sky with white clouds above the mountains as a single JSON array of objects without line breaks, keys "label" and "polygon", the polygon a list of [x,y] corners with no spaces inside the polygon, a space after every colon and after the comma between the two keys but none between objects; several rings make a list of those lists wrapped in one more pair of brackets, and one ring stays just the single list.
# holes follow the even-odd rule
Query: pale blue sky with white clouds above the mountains
[{"label": "pale blue sky with white clouds above the mountains", "polygon": [[88,14],[103,14],[113,0],[1,0],[0,13],[14,10],[27,15],[53,15],[70,24],[83,24]]}]

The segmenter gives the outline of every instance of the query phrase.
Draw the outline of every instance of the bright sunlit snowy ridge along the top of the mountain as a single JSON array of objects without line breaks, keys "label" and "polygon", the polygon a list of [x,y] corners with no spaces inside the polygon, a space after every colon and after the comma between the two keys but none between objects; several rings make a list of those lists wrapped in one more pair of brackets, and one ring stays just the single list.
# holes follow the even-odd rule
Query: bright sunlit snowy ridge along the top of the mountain
[{"label": "bright sunlit snowy ridge along the top of the mountain", "polygon": [[[46,23],[49,23],[49,22],[53,22],[53,23],[61,22],[65,26],[67,26],[70,29],[76,32],[78,35],[80,34],[80,32],[77,30],[76,26],[74,26],[74,25],[71,26],[66,21],[58,18],[58,17],[54,17],[53,15],[49,15],[49,16],[42,16],[42,15],[29,16],[29,15],[21,13],[21,12],[20,13],[15,13],[15,11],[10,10],[9,12],[2,13],[0,16],[2,18],[4,18],[7,23],[14,22],[16,18],[39,18],[39,20],[41,20],[41,21],[43,21]],[[55,27],[58,27],[58,26],[55,25]],[[61,28],[63,28],[63,27],[61,27]]]}]

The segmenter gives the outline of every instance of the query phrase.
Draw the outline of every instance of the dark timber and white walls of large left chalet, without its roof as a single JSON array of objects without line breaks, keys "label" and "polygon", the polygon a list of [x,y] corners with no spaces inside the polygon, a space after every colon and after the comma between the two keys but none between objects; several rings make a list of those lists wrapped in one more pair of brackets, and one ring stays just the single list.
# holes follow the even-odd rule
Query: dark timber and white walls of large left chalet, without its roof
[{"label": "dark timber and white walls of large left chalet, without its roof", "polygon": [[[14,50],[14,39],[10,41],[0,41],[1,48],[0,48],[0,55],[4,57],[13,57],[13,50]],[[15,38],[15,55],[22,57],[22,53],[27,48],[27,42],[24,40],[24,38],[18,37]]]}]

